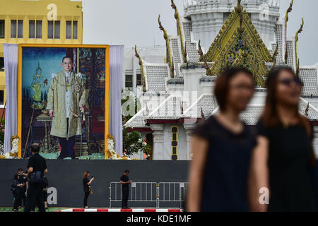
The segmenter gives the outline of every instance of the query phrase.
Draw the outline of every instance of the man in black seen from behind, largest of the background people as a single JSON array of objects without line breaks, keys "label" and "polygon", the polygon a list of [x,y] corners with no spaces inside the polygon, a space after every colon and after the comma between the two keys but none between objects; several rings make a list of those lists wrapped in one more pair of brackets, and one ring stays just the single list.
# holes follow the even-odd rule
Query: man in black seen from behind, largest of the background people
[{"label": "man in black seen from behind, largest of the background people", "polygon": [[28,161],[28,174],[30,178],[30,184],[28,188],[28,196],[24,212],[30,212],[30,210],[37,205],[39,212],[45,212],[45,205],[43,201],[43,176],[47,174],[47,163],[45,158],[39,155],[40,145],[33,143],[31,146],[32,156]]}]

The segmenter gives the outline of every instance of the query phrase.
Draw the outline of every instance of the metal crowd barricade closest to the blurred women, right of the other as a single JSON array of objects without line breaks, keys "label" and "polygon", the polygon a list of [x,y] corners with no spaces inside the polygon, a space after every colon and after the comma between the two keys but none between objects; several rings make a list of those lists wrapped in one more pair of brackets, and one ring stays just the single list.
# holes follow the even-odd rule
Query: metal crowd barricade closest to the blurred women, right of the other
[{"label": "metal crowd barricade closest to the blurred women, right of the other", "polygon": [[182,208],[188,185],[187,182],[160,182],[158,184],[158,208],[160,208],[160,203],[166,203],[170,207],[179,204],[179,208]]}]

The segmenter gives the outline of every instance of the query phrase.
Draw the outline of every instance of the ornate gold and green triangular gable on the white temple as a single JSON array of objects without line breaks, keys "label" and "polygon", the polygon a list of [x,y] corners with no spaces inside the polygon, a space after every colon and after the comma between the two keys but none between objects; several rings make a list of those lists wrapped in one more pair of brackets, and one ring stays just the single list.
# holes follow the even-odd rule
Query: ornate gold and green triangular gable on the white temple
[{"label": "ornate gold and green triangular gable on the white temple", "polygon": [[238,0],[235,10],[230,13],[204,59],[214,62],[211,75],[218,75],[228,66],[244,66],[253,73],[256,85],[264,88],[264,76],[269,72],[265,63],[273,63],[276,54],[269,53]]}]

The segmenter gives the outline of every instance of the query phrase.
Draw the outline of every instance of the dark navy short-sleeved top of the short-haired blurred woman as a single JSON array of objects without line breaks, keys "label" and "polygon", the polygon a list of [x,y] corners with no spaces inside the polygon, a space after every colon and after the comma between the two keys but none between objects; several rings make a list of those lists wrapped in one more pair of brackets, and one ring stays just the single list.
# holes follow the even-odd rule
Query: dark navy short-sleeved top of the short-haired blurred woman
[{"label": "dark navy short-sleeved top of the short-haired blurred woman", "polygon": [[209,117],[197,124],[193,135],[208,141],[201,211],[249,211],[247,177],[256,145],[249,127],[244,124],[241,133],[232,133],[215,117]]}]

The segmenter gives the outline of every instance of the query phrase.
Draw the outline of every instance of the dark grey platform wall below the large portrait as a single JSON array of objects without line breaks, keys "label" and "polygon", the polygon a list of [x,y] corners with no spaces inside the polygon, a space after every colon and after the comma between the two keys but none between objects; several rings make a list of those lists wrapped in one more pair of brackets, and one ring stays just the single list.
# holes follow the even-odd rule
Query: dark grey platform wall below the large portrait
[{"label": "dark grey platform wall below the large portrait", "polygon": [[[27,169],[28,160],[0,160],[0,206],[12,206],[13,194],[10,191],[13,175],[18,168]],[[125,169],[133,182],[187,182],[189,161],[171,160],[47,160],[49,181],[49,206],[83,208],[83,173],[90,171],[95,177],[92,183],[93,194],[88,205],[95,208],[119,208],[119,201],[110,206],[110,183],[119,182]],[[120,188],[119,188],[120,189]],[[130,194],[131,195],[131,194]],[[143,196],[143,194],[141,194]],[[114,194],[112,194],[114,197]],[[162,196],[161,196],[162,197]],[[158,208],[152,202],[129,202],[129,206]],[[178,202],[163,203],[160,208],[181,208]]]}]

